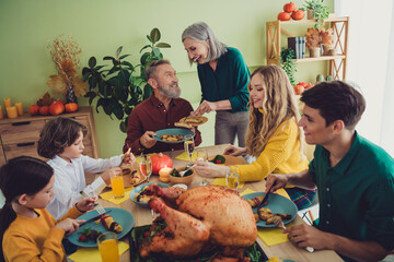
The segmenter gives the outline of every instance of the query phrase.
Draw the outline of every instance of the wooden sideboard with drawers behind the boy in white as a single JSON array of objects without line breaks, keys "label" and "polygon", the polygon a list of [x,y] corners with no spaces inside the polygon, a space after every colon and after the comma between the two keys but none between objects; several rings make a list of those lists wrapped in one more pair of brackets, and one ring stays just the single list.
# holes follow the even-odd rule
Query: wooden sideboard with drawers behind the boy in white
[{"label": "wooden sideboard with drawers behind the boy in white", "polygon": [[24,114],[14,119],[0,120],[0,166],[9,159],[21,156],[34,156],[44,160],[37,154],[39,132],[46,122],[57,117],[72,118],[88,128],[88,134],[83,139],[85,146],[83,154],[97,158],[99,143],[91,107],[79,107],[76,112],[67,112],[59,116],[30,116]]}]

